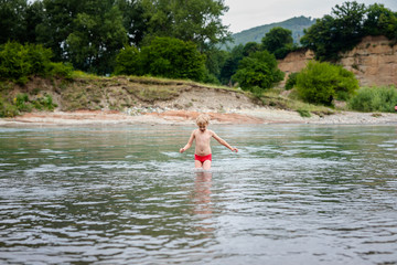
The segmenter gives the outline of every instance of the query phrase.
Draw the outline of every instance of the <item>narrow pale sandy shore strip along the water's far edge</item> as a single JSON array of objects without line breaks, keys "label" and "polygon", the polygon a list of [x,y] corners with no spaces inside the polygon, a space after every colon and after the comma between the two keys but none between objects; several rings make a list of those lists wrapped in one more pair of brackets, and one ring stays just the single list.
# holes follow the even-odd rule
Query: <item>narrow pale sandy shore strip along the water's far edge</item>
[{"label": "narrow pale sandy shore strip along the water's far edge", "polygon": [[[212,124],[396,124],[397,114],[340,112],[328,116],[303,118],[296,112],[271,108],[234,109],[225,113],[206,112]],[[192,124],[197,112],[167,110],[128,115],[109,110],[28,113],[15,118],[1,118],[0,126],[29,125],[112,125],[112,124]]]}]

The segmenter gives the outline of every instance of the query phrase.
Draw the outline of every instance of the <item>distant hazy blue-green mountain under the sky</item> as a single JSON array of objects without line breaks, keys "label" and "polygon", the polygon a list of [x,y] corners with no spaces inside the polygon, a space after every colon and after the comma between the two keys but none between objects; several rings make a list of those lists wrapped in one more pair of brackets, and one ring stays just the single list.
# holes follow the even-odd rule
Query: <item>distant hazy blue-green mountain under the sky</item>
[{"label": "distant hazy blue-green mountain under the sky", "polygon": [[271,23],[266,25],[259,25],[249,30],[242,31],[232,35],[234,43],[227,43],[227,46],[234,47],[238,44],[246,44],[247,42],[261,42],[261,39],[272,28],[281,26],[292,31],[292,38],[294,43],[299,43],[301,36],[303,36],[303,29],[310,28],[315,23],[315,19],[305,18],[303,15],[292,18],[282,22]]}]

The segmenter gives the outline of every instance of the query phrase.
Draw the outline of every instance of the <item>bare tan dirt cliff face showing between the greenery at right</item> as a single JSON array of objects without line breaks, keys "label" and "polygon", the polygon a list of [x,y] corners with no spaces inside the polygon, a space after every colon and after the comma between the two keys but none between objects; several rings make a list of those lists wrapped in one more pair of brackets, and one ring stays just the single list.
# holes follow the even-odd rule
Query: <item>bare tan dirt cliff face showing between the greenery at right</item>
[{"label": "bare tan dirt cliff face showing between the greenery at right", "polygon": [[[279,68],[287,80],[289,74],[299,72],[313,59],[312,51],[292,52],[279,61]],[[364,38],[352,51],[341,54],[340,63],[356,75],[361,86],[397,86],[397,44],[386,36]]]}]

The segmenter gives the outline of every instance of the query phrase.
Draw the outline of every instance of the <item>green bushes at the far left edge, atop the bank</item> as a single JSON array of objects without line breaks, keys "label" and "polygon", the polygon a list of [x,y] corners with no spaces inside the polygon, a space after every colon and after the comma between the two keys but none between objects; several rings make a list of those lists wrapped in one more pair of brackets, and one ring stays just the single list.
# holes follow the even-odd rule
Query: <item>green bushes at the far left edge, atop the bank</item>
[{"label": "green bushes at the far left edge, atop the bank", "polygon": [[51,49],[8,42],[0,45],[0,80],[24,84],[31,75],[71,77],[73,67],[51,62]]}]

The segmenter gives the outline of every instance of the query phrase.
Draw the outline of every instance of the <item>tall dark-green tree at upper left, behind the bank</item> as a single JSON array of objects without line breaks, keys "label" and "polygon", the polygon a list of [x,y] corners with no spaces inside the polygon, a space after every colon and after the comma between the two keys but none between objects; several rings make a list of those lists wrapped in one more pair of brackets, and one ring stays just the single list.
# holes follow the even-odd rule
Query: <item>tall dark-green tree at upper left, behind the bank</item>
[{"label": "tall dark-green tree at upper left, behind the bank", "polygon": [[117,52],[142,39],[138,1],[43,0],[43,9],[37,42],[53,50],[55,61],[83,71],[112,72]]}]

